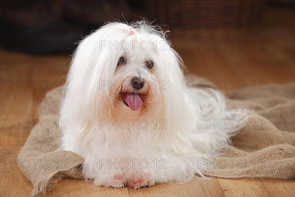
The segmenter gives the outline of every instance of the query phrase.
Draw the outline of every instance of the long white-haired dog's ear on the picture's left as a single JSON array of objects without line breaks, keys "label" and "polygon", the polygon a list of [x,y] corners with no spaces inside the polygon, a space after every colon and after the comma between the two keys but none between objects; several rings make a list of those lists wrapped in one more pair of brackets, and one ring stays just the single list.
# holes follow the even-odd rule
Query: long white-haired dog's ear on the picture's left
[{"label": "long white-haired dog's ear on the picture's left", "polygon": [[[97,105],[97,100],[102,103],[109,91],[108,87],[101,86],[101,83],[110,80],[120,56],[120,51],[109,50],[104,43],[114,43],[120,36],[118,32],[125,26],[108,24],[80,41],[67,75],[64,103],[69,106],[63,105],[64,110],[73,111],[65,113],[70,115],[76,110],[83,116],[82,113],[90,113],[87,109],[102,106]],[[70,105],[75,106],[75,109]]]}]

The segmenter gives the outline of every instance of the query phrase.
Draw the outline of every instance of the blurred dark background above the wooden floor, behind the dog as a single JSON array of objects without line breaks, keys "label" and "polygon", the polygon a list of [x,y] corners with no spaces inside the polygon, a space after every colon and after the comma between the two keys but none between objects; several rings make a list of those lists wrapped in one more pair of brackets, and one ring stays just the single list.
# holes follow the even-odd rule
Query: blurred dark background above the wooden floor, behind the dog
[{"label": "blurred dark background above the wooden floor, behind the dog", "polygon": [[169,27],[178,37],[261,33],[271,16],[285,20],[269,9],[294,6],[294,0],[1,0],[0,46],[30,54],[70,54],[74,43],[105,22],[141,17],[167,25],[163,29]]}]

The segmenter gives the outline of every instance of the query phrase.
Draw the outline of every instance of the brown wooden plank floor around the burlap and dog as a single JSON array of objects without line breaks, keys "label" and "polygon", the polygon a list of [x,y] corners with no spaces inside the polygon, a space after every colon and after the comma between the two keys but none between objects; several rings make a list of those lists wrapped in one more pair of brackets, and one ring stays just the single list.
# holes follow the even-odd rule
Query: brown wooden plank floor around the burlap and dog
[{"label": "brown wooden plank floor around the burlap and dog", "polygon": [[[274,15],[269,15],[265,19],[266,27],[263,31],[232,34],[190,32],[187,35],[175,31],[172,32],[172,43],[191,73],[215,81],[217,86],[226,91],[242,88],[243,84],[258,88],[269,83],[293,82],[295,81],[294,12],[289,13],[291,17],[288,20],[281,17],[285,11],[273,12]],[[242,40],[247,43],[247,47],[245,50],[241,50],[241,47],[238,48],[235,44],[233,50],[229,46],[221,50],[224,49],[221,45],[217,46],[216,50],[213,46],[203,47],[209,38],[213,41],[211,43],[215,40],[216,44],[221,43],[220,41],[235,40],[237,43]],[[31,120],[38,118],[38,104],[47,91],[62,84],[62,76],[66,74],[69,63],[69,56],[31,56],[0,51],[1,197],[31,195],[32,186],[18,170],[16,157],[33,126]],[[227,81],[226,87],[219,83],[222,80]],[[9,125],[4,126],[2,120],[9,120]],[[61,180],[57,187],[45,196],[294,197],[295,181],[212,178],[186,184],[158,184],[150,188],[133,190],[94,187],[92,182],[67,179]]]}]

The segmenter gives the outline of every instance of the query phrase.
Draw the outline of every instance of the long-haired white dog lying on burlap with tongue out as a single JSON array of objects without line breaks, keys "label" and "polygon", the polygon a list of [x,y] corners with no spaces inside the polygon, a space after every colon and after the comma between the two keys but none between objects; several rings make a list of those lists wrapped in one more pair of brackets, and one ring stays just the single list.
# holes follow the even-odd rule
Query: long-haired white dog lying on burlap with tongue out
[{"label": "long-haired white dog lying on burlap with tongue out", "polygon": [[138,189],[205,177],[204,161],[245,113],[226,109],[217,91],[187,87],[182,68],[165,33],[147,21],[108,23],[81,41],[60,121],[68,121],[62,149],[85,159],[87,179]]}]

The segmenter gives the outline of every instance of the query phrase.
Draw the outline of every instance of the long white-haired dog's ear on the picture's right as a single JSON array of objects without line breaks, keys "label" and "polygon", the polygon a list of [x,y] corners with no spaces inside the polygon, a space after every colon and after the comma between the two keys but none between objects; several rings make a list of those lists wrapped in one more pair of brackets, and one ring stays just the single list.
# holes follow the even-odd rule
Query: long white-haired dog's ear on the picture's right
[{"label": "long white-haired dog's ear on the picture's right", "polygon": [[[164,41],[158,37],[157,43]],[[154,75],[157,83],[155,85],[158,99],[160,99],[159,110],[165,113],[167,121],[167,131],[180,131],[190,123],[186,122],[189,118],[192,106],[184,91],[186,81],[182,72],[183,62],[178,53],[167,42],[165,46],[155,49],[155,53],[151,56],[154,62]],[[177,112],[177,113],[172,113]],[[170,128],[171,127],[171,128]],[[171,133],[171,136],[175,136]]]}]

